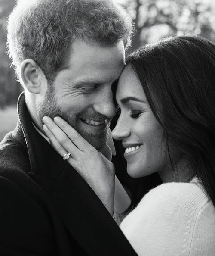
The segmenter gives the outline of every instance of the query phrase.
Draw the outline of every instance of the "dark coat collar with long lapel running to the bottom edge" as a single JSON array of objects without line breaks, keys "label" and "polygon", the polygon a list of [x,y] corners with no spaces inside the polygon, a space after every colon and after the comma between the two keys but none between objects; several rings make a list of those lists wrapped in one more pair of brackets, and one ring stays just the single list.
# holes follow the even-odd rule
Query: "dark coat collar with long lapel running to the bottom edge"
[{"label": "dark coat collar with long lapel running to the bottom edge", "polygon": [[18,100],[18,116],[15,135],[28,148],[28,175],[55,204],[68,237],[75,239],[87,255],[136,256],[91,187],[35,130],[24,94]]}]

